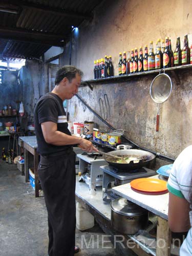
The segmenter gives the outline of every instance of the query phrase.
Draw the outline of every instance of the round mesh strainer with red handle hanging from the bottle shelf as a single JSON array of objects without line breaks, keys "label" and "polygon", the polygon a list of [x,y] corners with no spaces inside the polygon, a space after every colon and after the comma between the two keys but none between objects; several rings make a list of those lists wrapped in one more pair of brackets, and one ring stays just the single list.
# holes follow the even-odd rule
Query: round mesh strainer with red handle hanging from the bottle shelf
[{"label": "round mesh strainer with red handle hanging from the bottle shelf", "polygon": [[[163,73],[161,73],[163,71]],[[165,74],[165,70],[162,69],[159,72],[159,75],[157,75],[150,87],[150,95],[157,103],[157,121],[156,121],[156,132],[159,132],[159,115],[160,115],[160,109],[161,109],[161,103],[165,102],[172,92],[172,80],[170,77]]]}]

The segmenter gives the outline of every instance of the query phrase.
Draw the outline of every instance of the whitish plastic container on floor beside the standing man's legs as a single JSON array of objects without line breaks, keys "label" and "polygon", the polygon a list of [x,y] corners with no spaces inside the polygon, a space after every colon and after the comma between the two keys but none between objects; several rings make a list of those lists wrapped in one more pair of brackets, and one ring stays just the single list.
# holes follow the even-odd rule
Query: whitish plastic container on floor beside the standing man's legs
[{"label": "whitish plastic container on floor beside the standing man's legs", "polygon": [[82,207],[80,203],[76,203],[76,227],[79,230],[86,230],[94,226],[94,216]]}]

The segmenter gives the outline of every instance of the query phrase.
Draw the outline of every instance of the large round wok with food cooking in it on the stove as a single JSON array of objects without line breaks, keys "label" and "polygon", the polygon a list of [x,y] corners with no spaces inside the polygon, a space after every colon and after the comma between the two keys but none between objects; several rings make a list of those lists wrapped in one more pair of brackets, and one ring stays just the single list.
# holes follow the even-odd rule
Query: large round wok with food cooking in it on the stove
[{"label": "large round wok with food cooking in it on the stove", "polygon": [[127,172],[146,166],[149,162],[155,159],[154,154],[143,150],[116,150],[109,153],[114,156],[134,157],[138,159],[137,161],[130,161],[129,163],[117,163],[115,162],[117,160],[116,158],[103,155],[104,160],[110,165],[118,169],[126,169]]}]

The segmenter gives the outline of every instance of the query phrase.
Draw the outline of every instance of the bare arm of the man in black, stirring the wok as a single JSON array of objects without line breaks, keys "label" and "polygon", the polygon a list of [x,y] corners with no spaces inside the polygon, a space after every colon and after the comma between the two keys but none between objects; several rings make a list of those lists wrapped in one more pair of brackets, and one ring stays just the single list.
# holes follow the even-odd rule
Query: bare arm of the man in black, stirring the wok
[{"label": "bare arm of the man in black, stirring the wok", "polygon": [[57,131],[57,124],[54,122],[41,123],[41,129],[45,141],[49,144],[56,146],[79,144],[84,151],[97,152],[97,149],[93,146],[91,141]]}]

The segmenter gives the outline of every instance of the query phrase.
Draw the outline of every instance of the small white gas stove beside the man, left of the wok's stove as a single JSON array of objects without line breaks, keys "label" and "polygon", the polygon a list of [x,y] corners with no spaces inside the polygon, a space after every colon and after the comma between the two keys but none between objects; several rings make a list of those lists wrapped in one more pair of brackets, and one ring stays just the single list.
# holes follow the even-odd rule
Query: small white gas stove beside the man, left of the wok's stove
[{"label": "small white gas stove beside the man, left of the wok's stove", "polygon": [[90,189],[102,186],[103,173],[100,166],[106,164],[102,155],[84,152],[77,157],[79,158],[79,181],[86,182]]}]

